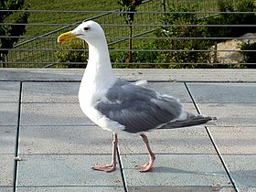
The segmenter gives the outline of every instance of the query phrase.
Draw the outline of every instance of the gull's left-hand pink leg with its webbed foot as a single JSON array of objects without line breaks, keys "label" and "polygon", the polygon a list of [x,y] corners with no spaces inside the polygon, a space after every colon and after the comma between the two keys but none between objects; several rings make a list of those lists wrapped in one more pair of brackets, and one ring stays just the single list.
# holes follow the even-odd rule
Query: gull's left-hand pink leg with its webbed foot
[{"label": "gull's left-hand pink leg with its webbed foot", "polygon": [[110,165],[100,165],[96,164],[92,166],[91,168],[97,171],[104,171],[104,172],[112,172],[116,168],[116,147],[117,147],[117,134],[113,133],[113,139],[112,139],[112,163]]}]

